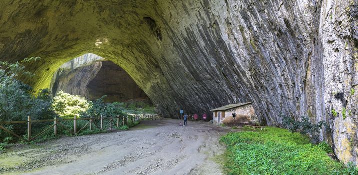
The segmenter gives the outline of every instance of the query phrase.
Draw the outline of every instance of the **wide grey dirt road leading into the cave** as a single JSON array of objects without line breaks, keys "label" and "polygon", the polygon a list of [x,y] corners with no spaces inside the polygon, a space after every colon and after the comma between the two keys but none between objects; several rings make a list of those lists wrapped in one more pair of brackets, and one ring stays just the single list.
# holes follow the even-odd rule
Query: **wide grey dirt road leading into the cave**
[{"label": "wide grey dirt road leading into the cave", "polygon": [[0,155],[0,173],[222,174],[215,157],[225,146],[218,138],[229,130],[207,122],[179,122],[142,121],[128,131],[16,146]]}]

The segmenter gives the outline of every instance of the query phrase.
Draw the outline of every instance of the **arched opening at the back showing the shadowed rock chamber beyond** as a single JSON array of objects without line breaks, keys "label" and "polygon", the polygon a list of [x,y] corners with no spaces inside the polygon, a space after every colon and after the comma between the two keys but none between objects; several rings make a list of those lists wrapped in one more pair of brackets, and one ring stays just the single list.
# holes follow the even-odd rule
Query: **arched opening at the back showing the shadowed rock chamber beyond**
[{"label": "arched opening at the back showing the shadowed rock chamber beyond", "polygon": [[153,106],[146,93],[124,69],[92,53],[61,65],[51,80],[50,88],[53,96],[62,90],[91,101],[107,95],[104,102],[125,102],[133,109]]}]

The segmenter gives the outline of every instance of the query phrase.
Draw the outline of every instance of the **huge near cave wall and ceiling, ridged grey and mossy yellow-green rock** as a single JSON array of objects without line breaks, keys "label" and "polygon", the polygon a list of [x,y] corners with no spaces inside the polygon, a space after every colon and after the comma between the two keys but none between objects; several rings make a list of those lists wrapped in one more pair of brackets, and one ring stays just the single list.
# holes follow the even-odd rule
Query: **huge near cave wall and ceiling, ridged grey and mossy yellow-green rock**
[{"label": "huge near cave wall and ceiling, ridged grey and mossy yellow-green rock", "polygon": [[[48,87],[66,61],[92,52],[120,65],[167,117],[252,101],[262,123],[280,113],[327,121],[322,139],[358,162],[356,0],[2,0],[0,56]],[[345,114],[343,119],[343,108]],[[333,116],[332,109],[337,116]]]}]

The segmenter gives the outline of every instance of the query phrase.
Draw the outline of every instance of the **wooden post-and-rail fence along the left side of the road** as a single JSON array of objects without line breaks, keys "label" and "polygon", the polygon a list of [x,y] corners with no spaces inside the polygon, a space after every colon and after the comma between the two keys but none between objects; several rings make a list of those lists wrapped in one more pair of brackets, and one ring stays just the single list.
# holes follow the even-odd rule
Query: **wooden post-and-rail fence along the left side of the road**
[{"label": "wooden post-and-rail fence along the left side of the road", "polygon": [[[27,121],[3,121],[0,122],[0,129],[3,129],[4,131],[26,141],[29,142],[31,140],[34,140],[36,137],[40,136],[41,134],[45,133],[47,130],[53,128],[54,129],[54,135],[57,135],[57,126],[61,126],[64,129],[68,130],[70,133],[74,133],[74,135],[77,135],[78,133],[80,133],[82,130],[84,130],[84,128],[86,128],[87,126],[89,126],[89,129],[92,130],[93,126],[96,126],[98,129],[100,130],[104,130],[105,129],[105,125],[108,126],[109,125],[109,130],[112,130],[113,128],[117,127],[121,127],[124,125],[128,125],[128,121],[131,121],[132,123],[134,122],[139,122],[140,120],[154,120],[154,119],[162,119],[161,115],[129,115],[129,116],[118,116],[117,117],[103,117],[101,115],[101,117],[90,117],[90,118],[76,118],[76,116],[72,119],[62,119],[62,118],[57,118],[55,117],[54,119],[45,119],[45,120],[31,120],[31,117],[28,116],[28,120]],[[88,121],[85,126],[83,126],[82,128],[78,129],[77,128],[77,122],[81,121],[81,120],[86,120]],[[96,124],[96,120],[99,120],[100,124],[99,126]],[[105,120],[108,120],[107,124],[105,124]],[[67,128],[64,124],[62,124],[61,122],[64,121],[73,121],[73,130]],[[38,123],[38,122],[54,122],[54,124],[52,124],[50,127],[46,128],[45,130],[41,131],[40,133],[38,133],[35,136],[31,135],[31,124],[32,123]],[[21,123],[27,123],[27,139],[24,139],[23,137],[21,137],[20,135],[10,131],[9,129],[3,127],[2,125],[4,124],[21,124]]]}]

